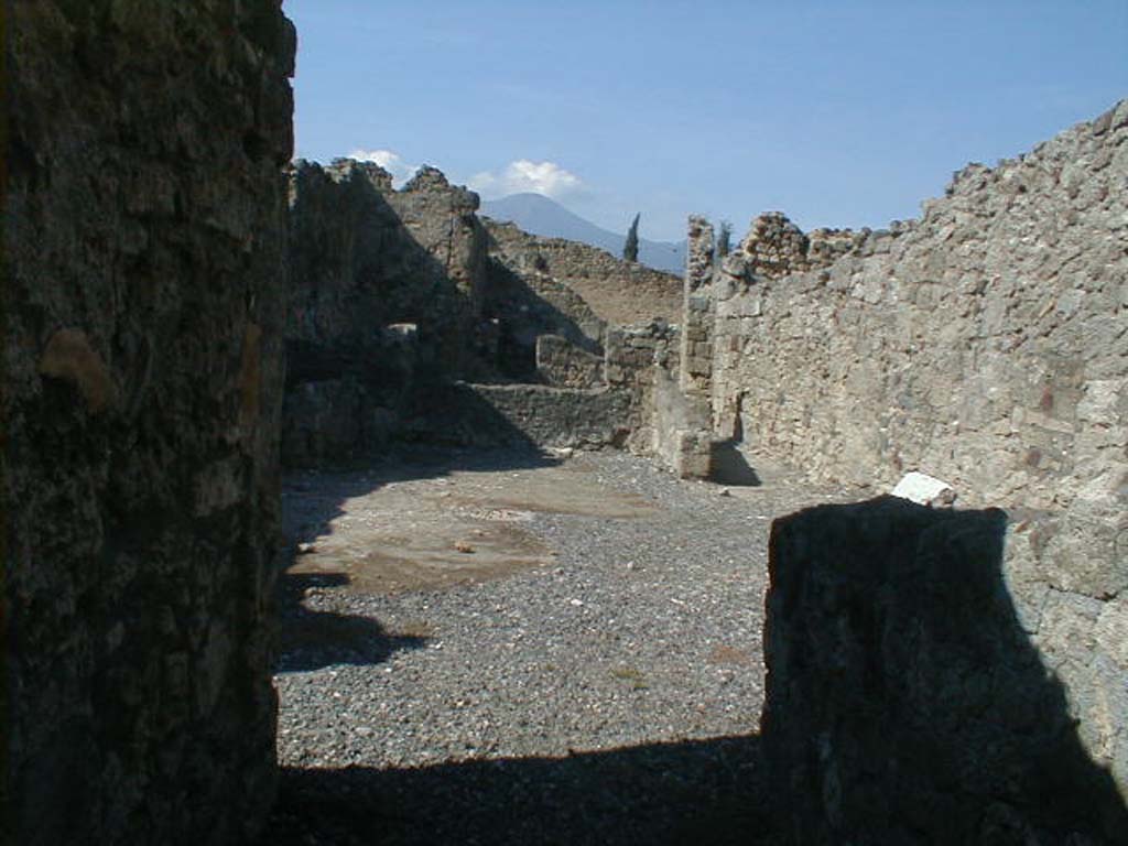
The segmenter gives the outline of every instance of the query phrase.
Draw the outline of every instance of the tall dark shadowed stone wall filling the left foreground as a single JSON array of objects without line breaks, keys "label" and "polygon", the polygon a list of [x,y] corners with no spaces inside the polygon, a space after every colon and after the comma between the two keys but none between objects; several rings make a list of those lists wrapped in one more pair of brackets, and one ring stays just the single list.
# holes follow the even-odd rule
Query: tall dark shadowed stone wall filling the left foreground
[{"label": "tall dark shadowed stone wall filling the left foreground", "polygon": [[277,0],[6,14],[3,834],[236,843],[275,777],[294,34]]}]

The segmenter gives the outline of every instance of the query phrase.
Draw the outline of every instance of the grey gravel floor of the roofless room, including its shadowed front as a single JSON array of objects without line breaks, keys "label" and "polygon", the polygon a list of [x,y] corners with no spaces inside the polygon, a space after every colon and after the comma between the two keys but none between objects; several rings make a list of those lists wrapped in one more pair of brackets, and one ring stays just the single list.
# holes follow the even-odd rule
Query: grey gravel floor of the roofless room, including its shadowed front
[{"label": "grey gravel floor of the roofless room, including its shadowed front", "polygon": [[[457,466],[496,482],[536,464],[449,453],[374,483],[305,476],[288,518],[308,535],[310,514],[379,479]],[[333,625],[280,656],[284,769],[264,844],[773,841],[756,735],[767,534],[834,492],[680,482],[614,452],[569,467],[593,500],[653,508],[532,513],[525,528],[555,556],[503,579],[391,596],[284,580],[284,627]]]}]

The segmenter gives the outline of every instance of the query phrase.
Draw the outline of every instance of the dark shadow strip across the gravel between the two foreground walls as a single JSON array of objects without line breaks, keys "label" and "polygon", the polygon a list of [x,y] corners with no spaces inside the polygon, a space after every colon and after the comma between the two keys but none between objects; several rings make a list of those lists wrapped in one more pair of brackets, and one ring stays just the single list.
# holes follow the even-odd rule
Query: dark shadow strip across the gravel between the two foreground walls
[{"label": "dark shadow strip across the gravel between the two foreground walls", "polygon": [[282,770],[259,846],[774,844],[756,735],[567,758]]}]

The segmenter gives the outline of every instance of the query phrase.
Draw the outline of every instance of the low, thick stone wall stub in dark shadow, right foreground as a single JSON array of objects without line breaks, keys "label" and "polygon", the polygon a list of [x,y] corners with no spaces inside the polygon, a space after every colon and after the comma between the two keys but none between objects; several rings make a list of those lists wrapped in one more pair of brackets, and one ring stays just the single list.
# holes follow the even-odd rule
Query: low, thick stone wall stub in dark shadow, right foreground
[{"label": "low, thick stone wall stub in dark shadow, right foreground", "polygon": [[[1026,530],[893,497],[773,525],[761,737],[786,843],[1123,843],[1123,797],[1011,592]],[[1079,623],[1068,649],[1122,654]]]}]

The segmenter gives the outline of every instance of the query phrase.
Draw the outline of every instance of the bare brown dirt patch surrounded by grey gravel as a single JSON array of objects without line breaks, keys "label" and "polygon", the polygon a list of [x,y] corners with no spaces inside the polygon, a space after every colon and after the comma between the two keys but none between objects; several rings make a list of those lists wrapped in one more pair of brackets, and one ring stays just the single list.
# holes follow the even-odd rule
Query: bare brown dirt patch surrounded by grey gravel
[{"label": "bare brown dirt patch surrounded by grey gravel", "polygon": [[[629,519],[658,508],[600,486],[582,456],[506,470],[455,467],[430,478],[405,478],[403,465],[389,465],[345,477],[355,492],[342,500],[337,491],[314,493],[318,475],[302,474],[287,488],[287,528],[299,543],[289,572],[344,576],[349,589],[368,593],[441,589],[549,565],[554,550],[522,526],[535,512]],[[334,513],[325,513],[325,494]]]}]

